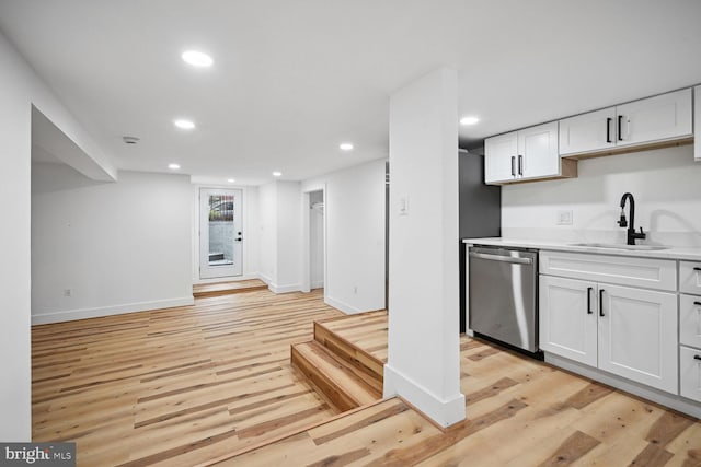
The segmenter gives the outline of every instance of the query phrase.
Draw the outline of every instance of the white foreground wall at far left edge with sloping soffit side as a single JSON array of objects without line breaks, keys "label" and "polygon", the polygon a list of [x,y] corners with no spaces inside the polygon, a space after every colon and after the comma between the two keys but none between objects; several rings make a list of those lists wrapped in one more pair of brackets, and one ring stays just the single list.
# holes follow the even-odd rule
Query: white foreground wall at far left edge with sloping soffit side
[{"label": "white foreground wall at far left edge with sloping soffit side", "polygon": [[0,34],[0,440],[31,440],[31,148],[32,104],[84,152],[115,174],[104,154],[88,137],[24,59]]}]

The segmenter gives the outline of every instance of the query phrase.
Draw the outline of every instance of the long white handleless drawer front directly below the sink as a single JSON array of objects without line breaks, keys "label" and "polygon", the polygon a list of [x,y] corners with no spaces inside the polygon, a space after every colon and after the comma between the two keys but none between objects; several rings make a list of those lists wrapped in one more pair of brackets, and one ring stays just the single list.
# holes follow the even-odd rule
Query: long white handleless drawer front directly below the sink
[{"label": "long white handleless drawer front directly below the sink", "polygon": [[540,273],[675,292],[677,264],[671,259],[540,252]]}]

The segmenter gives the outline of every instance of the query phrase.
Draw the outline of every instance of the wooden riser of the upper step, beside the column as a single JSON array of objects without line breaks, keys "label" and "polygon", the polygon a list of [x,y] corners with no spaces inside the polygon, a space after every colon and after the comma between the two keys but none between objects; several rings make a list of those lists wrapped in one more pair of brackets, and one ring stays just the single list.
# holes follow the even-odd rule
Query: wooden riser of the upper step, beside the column
[{"label": "wooden riser of the upper step, beside the column", "polygon": [[350,365],[358,377],[378,394],[382,394],[384,362],[329,329],[323,322],[314,322],[314,340],[331,350],[336,359]]}]

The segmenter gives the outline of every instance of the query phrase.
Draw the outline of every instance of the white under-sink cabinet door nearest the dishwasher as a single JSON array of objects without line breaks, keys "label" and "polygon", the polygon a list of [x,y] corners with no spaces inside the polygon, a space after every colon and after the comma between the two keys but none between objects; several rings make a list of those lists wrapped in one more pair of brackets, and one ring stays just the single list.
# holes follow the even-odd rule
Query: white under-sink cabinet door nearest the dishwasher
[{"label": "white under-sink cabinet door nearest the dishwasher", "polygon": [[540,348],[596,366],[596,283],[541,276],[539,289]]}]

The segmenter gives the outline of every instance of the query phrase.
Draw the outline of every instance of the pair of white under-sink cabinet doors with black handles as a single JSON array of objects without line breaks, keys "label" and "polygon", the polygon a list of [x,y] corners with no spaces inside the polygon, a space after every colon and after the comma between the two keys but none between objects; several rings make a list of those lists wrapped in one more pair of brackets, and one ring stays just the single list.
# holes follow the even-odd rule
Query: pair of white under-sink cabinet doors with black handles
[{"label": "pair of white under-sink cabinet doors with black handles", "polygon": [[678,394],[675,293],[545,275],[539,289],[542,350]]}]

